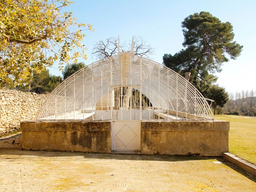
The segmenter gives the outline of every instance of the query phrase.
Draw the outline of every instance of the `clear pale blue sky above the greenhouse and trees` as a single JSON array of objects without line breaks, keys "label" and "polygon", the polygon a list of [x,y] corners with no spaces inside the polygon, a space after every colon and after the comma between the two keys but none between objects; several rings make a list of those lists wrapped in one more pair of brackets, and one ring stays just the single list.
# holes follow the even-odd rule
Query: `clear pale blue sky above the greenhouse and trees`
[{"label": "clear pale blue sky above the greenhouse and trees", "polygon": [[[255,0],[74,0],[66,10],[73,12],[77,22],[90,23],[95,29],[85,32],[86,64],[95,61],[91,53],[96,42],[117,36],[121,42],[141,36],[155,48],[151,58],[162,63],[165,53],[174,54],[183,48],[181,22],[184,18],[195,12],[208,11],[222,22],[230,22],[234,40],[244,46],[241,56],[223,64],[222,72],[216,74],[217,83],[228,92],[256,90],[256,75],[253,74],[256,72]],[[58,63],[53,67],[57,68]],[[50,73],[61,75],[54,68],[49,68]]]}]

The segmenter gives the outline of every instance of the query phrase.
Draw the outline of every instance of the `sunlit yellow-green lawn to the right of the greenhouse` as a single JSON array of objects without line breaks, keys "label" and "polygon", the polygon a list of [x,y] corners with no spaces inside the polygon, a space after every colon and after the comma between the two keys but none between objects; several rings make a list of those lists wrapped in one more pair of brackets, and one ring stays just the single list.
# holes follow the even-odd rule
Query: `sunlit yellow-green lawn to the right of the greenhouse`
[{"label": "sunlit yellow-green lawn to the right of the greenhouse", "polygon": [[229,152],[256,165],[256,119],[216,115],[230,122]]}]

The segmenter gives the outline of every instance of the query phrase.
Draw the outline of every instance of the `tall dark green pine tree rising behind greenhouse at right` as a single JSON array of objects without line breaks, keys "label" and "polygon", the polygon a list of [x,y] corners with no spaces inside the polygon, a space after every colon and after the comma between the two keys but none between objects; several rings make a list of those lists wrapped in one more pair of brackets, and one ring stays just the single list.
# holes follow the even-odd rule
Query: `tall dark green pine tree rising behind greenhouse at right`
[{"label": "tall dark green pine tree rising behind greenhouse at right", "polygon": [[163,63],[182,76],[191,72],[190,81],[203,94],[216,82],[215,72],[221,71],[223,62],[236,59],[241,51],[234,41],[233,27],[221,22],[209,12],[188,16],[182,22],[184,42],[180,52],[164,54]]}]

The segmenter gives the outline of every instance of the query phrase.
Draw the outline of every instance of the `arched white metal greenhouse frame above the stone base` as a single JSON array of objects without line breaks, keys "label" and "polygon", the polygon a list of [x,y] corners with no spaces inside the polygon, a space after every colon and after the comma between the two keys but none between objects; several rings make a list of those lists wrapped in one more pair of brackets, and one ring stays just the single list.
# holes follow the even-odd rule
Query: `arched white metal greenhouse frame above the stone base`
[{"label": "arched white metal greenhouse frame above the stone base", "polygon": [[62,82],[38,120],[213,119],[202,94],[170,68],[132,52],[94,62]]}]

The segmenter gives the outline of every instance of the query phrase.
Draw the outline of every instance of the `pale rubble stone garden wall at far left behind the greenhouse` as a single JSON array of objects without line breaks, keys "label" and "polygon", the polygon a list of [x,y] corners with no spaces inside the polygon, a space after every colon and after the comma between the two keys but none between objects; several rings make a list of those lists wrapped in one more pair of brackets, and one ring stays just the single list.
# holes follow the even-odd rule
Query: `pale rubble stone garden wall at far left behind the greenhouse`
[{"label": "pale rubble stone garden wall at far left behind the greenhouse", "polygon": [[0,90],[0,133],[20,128],[20,120],[36,119],[45,94]]}]

